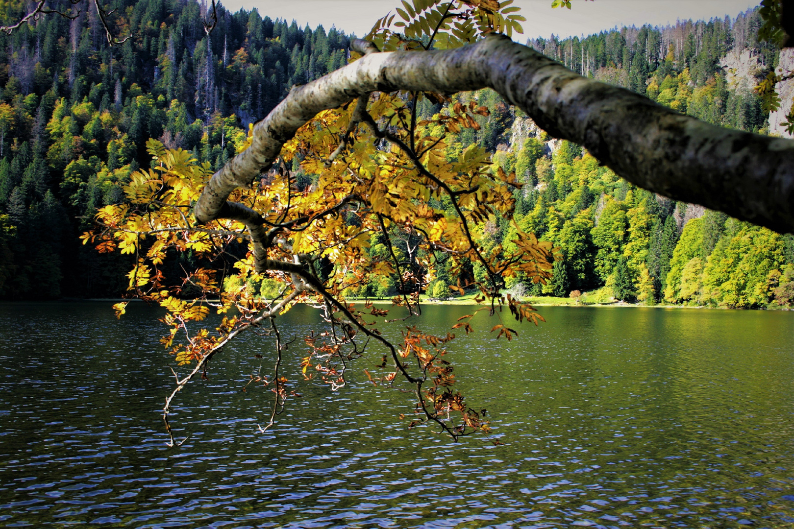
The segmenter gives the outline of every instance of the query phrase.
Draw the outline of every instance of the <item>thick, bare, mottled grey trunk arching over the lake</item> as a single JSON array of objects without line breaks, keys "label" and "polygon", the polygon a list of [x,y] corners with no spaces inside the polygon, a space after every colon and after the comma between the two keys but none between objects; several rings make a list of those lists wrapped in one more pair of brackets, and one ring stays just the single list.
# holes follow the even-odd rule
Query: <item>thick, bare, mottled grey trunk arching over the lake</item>
[{"label": "thick, bare, mottled grey trunk arching over the lake", "polygon": [[205,223],[228,213],[229,193],[266,171],[297,129],[324,109],[373,91],[451,94],[484,87],[551,135],[584,145],[637,186],[794,232],[794,140],[708,125],[576,75],[504,36],[449,51],[369,53],[294,88],[256,124],[251,148],[214,174],[195,216]]}]

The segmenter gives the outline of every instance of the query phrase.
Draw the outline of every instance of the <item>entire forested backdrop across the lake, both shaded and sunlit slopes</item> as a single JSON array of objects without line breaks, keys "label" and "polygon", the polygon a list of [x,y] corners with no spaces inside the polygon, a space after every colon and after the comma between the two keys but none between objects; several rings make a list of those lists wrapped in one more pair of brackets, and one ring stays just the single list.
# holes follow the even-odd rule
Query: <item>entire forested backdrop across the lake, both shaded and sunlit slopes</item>
[{"label": "entire forested backdrop across the lake, both shaded and sunlit slopes", "polygon": [[[64,2],[65,4],[66,2]],[[184,148],[217,169],[294,84],[341,67],[349,39],[336,29],[301,29],[256,11],[218,10],[206,36],[197,2],[110,2],[119,34],[110,48],[94,15],[74,21],[40,17],[0,35],[0,296],[118,297],[129,255],[101,255],[79,233],[97,207],[125,201],[129,174],[151,162],[145,141]],[[6,21],[20,2],[0,6]],[[528,44],[582,75],[626,86],[711,123],[767,133],[753,93],[777,65],[777,49],[756,40],[759,20],[683,22],[620,29],[584,40]],[[491,109],[479,130],[463,129],[453,159],[469,144],[515,171],[516,224],[561,248],[564,259],[545,286],[518,278],[514,293],[576,296],[583,301],[670,301],[744,308],[794,301],[794,238],[680,204],[630,186],[576,145],[553,140],[490,91],[464,94]],[[418,113],[445,112],[423,100]],[[315,181],[299,164],[298,185]],[[444,206],[443,204],[439,206]],[[448,214],[454,215],[451,205]],[[484,246],[514,239],[494,217],[480,229]],[[395,233],[395,236],[399,234]],[[374,237],[370,252],[387,252]],[[402,244],[402,246],[401,246]],[[396,243],[403,259],[410,240]],[[244,250],[243,250],[244,251]],[[380,252],[380,253],[379,253]],[[191,266],[190,251],[172,266]],[[479,266],[469,270],[484,273]],[[231,279],[233,281],[233,279]],[[441,266],[426,286],[449,295],[457,278]],[[351,295],[390,296],[399,280],[379,280]]]}]

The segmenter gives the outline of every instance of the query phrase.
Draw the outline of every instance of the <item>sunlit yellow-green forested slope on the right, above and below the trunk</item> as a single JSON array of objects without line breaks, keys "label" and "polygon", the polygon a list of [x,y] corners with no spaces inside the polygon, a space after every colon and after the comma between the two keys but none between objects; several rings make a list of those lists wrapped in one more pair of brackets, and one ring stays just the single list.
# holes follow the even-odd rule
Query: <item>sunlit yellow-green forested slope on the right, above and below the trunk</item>
[{"label": "sunlit yellow-green forested slope on the right, above and below the trunk", "polygon": [[[753,88],[777,66],[780,54],[758,42],[760,24],[757,11],[750,11],[734,21],[623,28],[584,40],[528,44],[582,75],[681,113],[768,133],[768,116]],[[513,130],[520,132],[521,126],[514,123]],[[567,142],[550,157],[536,159],[539,147],[550,150],[542,136],[521,145],[514,141],[502,159],[515,163],[518,174],[533,184],[523,197],[526,214],[519,226],[552,240],[565,255],[545,293],[566,296],[606,286],[583,299],[738,308],[794,301],[791,235],[639,190]]]}]

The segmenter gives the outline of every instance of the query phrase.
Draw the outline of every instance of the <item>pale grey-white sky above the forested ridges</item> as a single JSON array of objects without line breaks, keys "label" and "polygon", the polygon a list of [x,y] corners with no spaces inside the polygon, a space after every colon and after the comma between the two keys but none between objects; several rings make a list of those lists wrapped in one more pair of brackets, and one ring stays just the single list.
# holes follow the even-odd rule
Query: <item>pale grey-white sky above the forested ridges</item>
[{"label": "pale grey-white sky above the forested ridges", "polygon": [[[760,0],[572,0],[572,10],[551,9],[551,0],[515,0],[526,17],[524,34],[514,37],[589,35],[616,25],[666,25],[681,20],[708,20],[712,17],[734,18],[738,13],[757,6]],[[264,17],[286,18],[311,28],[322,24],[326,31],[332,25],[345,33],[364,36],[372,24],[395,6],[398,0],[222,0],[226,9],[256,7]],[[398,17],[399,18],[399,17]]]}]

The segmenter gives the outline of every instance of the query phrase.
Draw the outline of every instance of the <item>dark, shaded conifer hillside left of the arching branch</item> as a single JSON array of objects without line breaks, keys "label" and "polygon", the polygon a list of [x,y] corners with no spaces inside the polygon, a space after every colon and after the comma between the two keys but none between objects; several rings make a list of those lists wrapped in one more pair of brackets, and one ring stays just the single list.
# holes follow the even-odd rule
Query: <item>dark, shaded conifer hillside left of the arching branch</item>
[{"label": "dark, shaded conifer hillside left of the arching branch", "polygon": [[[0,17],[25,7],[4,2]],[[78,236],[97,207],[125,200],[120,184],[149,165],[146,140],[221,167],[292,85],[347,63],[349,39],[333,28],[219,7],[207,37],[198,2],[110,7],[117,34],[133,35],[121,46],[107,45],[91,10],[0,33],[2,297],[121,295],[129,263]]]}]

